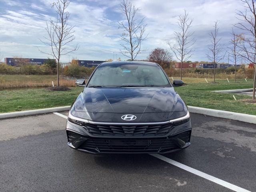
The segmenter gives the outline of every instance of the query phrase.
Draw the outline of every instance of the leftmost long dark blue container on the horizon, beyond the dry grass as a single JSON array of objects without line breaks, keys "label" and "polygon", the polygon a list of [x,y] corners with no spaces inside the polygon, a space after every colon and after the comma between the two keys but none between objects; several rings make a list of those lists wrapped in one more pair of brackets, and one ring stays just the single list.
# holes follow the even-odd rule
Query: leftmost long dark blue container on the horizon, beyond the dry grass
[{"label": "leftmost long dark blue container on the horizon, beyond the dry grass", "polygon": [[[4,62],[7,65],[16,66],[19,62],[25,62],[29,64],[42,65],[48,59],[38,59],[38,58],[4,58]],[[55,60],[55,59],[51,59]]]}]

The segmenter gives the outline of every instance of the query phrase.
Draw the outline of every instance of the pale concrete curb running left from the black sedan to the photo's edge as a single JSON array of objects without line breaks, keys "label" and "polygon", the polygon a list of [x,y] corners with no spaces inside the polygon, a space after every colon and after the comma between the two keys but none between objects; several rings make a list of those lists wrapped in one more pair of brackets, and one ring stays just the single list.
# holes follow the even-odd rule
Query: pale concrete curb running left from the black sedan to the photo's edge
[{"label": "pale concrete curb running left from the black sedan to the photo's edge", "polygon": [[0,113],[0,119],[22,117],[22,116],[28,116],[28,115],[39,115],[39,114],[60,112],[60,111],[68,111],[69,109],[70,109],[70,106],[64,106],[64,107],[53,107],[53,108],[10,112],[10,113]]}]

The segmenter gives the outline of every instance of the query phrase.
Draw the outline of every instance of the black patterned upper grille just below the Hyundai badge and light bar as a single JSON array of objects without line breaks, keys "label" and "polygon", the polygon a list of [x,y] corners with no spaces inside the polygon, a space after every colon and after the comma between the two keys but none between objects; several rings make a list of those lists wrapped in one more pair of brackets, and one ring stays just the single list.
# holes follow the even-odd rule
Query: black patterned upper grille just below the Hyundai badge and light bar
[{"label": "black patterned upper grille just below the Hyundai badge and light bar", "polygon": [[90,134],[96,136],[164,136],[173,124],[160,125],[100,125],[86,123],[83,126]]}]

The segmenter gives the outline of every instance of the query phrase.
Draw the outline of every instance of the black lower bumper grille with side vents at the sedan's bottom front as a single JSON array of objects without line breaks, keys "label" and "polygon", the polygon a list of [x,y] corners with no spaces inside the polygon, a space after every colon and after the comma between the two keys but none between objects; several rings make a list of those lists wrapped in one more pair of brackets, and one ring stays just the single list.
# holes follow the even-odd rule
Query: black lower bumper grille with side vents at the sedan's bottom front
[{"label": "black lower bumper grille with side vents at the sedan's bottom front", "polygon": [[[190,142],[190,134],[191,131],[187,131],[168,139],[87,138],[78,149],[94,153],[165,153],[179,149],[173,138],[180,138],[184,142]],[[69,142],[79,137],[78,134],[68,132]]]}]

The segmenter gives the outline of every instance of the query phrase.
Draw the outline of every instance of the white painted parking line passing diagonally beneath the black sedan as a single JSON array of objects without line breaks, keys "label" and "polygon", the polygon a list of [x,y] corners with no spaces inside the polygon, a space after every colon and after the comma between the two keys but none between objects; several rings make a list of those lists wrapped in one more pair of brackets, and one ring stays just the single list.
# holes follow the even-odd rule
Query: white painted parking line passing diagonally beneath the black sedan
[{"label": "white painted parking line passing diagonally beneath the black sedan", "polygon": [[[63,114],[60,114],[60,113],[57,113],[57,112],[54,112],[54,114],[56,114],[58,116],[61,116],[63,118],[66,118],[66,119],[68,118],[66,115],[63,115]],[[160,160],[163,160],[163,161],[165,161],[167,163],[170,163],[170,164],[172,164],[174,166],[177,166],[178,168],[181,168],[181,169],[186,170],[186,171],[188,171],[190,173],[193,173],[193,174],[195,174],[197,176],[200,176],[200,177],[205,178],[205,179],[207,179],[209,181],[212,181],[212,182],[214,182],[216,184],[219,184],[219,185],[224,186],[224,187],[226,187],[228,189],[231,189],[233,191],[236,191],[236,192],[250,192],[250,191],[248,191],[248,190],[246,190],[244,188],[238,187],[238,186],[233,185],[231,183],[228,183],[228,182],[226,182],[224,180],[218,179],[218,178],[216,178],[214,176],[211,176],[211,175],[208,175],[208,174],[206,174],[204,172],[198,171],[198,170],[196,170],[194,168],[191,168],[189,166],[181,164],[181,163],[179,163],[177,161],[169,159],[169,158],[167,158],[165,156],[162,156],[160,154],[150,154],[150,155],[152,155],[152,156],[154,156],[154,157],[156,157],[156,158],[158,158]]]}]

